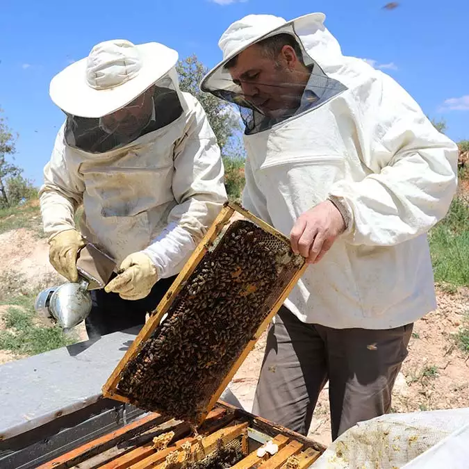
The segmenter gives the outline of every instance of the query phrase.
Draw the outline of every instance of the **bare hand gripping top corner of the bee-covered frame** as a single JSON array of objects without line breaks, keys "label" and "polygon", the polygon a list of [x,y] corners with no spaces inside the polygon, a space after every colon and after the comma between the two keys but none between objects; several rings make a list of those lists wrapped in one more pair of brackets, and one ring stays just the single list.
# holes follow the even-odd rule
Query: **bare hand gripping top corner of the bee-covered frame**
[{"label": "bare hand gripping top corner of the bee-covered frame", "polygon": [[308,263],[318,263],[345,231],[345,221],[329,200],[303,213],[290,231],[290,242],[295,254],[301,254]]}]

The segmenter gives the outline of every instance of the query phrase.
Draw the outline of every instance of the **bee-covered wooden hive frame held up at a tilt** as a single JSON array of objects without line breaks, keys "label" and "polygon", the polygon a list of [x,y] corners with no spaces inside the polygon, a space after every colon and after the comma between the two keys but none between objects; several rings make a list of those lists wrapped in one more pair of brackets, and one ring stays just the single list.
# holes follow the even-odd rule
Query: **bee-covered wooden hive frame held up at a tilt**
[{"label": "bee-covered wooden hive frame held up at a tilt", "polygon": [[199,425],[305,268],[288,238],[226,204],[104,396]]}]

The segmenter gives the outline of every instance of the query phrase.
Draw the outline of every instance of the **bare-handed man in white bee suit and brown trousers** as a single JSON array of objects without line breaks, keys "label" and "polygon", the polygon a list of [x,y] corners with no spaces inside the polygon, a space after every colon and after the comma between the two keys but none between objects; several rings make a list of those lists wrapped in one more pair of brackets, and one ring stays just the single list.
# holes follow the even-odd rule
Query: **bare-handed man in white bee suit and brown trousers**
[{"label": "bare-handed man in white bee suit and brown trousers", "polygon": [[436,308],[427,232],[457,149],[324,18],[231,24],[201,89],[240,106],[243,204],[311,263],[270,325],[253,411],[306,434],[329,380],[335,439],[389,411],[413,322]]}]

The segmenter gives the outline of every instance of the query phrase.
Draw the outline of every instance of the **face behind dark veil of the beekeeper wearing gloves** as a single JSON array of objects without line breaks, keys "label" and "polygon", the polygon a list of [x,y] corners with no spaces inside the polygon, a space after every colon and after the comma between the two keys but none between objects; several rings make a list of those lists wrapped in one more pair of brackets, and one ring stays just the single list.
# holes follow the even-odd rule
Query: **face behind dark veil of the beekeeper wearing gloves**
[{"label": "face behind dark veil of the beekeeper wearing gloves", "polygon": [[151,95],[153,90],[152,87],[123,108],[101,117],[101,123],[106,127],[106,130],[110,133],[125,136],[140,133],[151,116],[153,106]]}]

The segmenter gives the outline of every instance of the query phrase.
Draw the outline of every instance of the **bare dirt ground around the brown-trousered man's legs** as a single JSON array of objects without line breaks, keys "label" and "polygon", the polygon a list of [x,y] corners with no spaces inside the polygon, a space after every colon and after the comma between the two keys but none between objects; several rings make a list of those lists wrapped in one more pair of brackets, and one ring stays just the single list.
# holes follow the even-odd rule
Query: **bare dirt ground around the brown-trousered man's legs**
[{"label": "bare dirt ground around the brown-trousered man's legs", "polygon": [[[437,294],[438,309],[415,322],[409,356],[394,387],[392,410],[395,412],[468,406],[468,354],[455,345],[454,335],[469,310],[469,288],[461,288],[456,294],[437,288]],[[248,411],[252,408],[264,348],[265,334],[231,381],[231,390]],[[311,438],[324,445],[331,443],[328,392],[326,384],[309,431]]]}]

